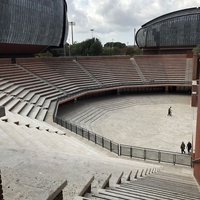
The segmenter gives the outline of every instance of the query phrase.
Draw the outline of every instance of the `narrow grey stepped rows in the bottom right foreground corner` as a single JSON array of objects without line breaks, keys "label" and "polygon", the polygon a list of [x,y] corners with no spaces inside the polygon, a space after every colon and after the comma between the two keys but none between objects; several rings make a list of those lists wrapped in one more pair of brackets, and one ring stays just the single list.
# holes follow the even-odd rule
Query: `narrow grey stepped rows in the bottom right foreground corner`
[{"label": "narrow grey stepped rows in the bottom right foreground corner", "polygon": [[200,192],[191,175],[162,170],[120,185],[99,189],[97,193],[87,193],[85,196],[88,199],[98,200],[198,200]]}]

